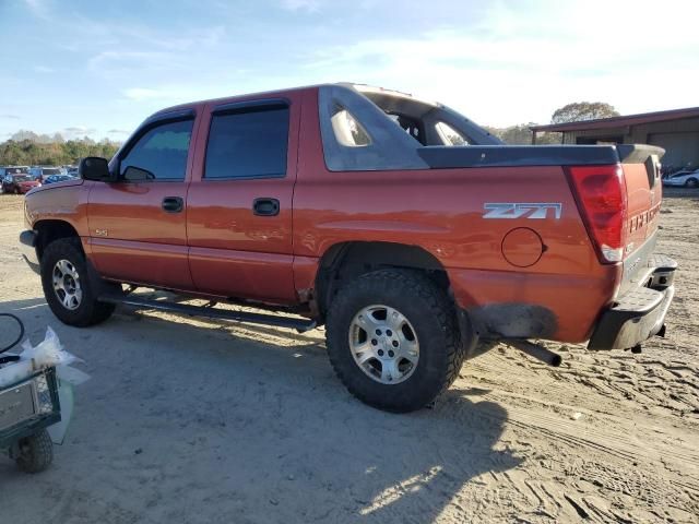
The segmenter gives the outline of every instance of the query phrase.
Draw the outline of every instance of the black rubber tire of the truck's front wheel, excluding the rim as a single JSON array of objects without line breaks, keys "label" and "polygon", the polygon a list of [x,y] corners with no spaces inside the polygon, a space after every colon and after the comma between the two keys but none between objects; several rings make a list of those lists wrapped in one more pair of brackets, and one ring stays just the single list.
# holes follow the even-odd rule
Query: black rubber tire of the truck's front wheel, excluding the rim
[{"label": "black rubber tire of the truck's front wheel, excluding the rim", "polygon": [[[83,297],[80,306],[74,310],[63,307],[54,291],[51,275],[54,266],[59,260],[68,260],[80,276]],[[90,278],[87,262],[79,238],[61,238],[49,243],[42,257],[40,273],[46,301],[58,320],[64,324],[86,327],[104,322],[114,312],[115,306],[112,303],[97,300],[97,294],[99,293],[97,287],[99,286],[96,285],[95,278]],[[115,286],[107,283],[99,284],[105,287]]]}]

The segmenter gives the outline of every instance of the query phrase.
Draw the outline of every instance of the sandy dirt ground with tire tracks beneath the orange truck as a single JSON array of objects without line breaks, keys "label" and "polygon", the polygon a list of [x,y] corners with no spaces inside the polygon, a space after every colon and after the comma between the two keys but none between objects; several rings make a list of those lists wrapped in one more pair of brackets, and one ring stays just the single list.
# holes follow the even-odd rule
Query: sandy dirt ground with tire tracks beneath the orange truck
[{"label": "sandy dirt ground with tire tracks beneath the orange truck", "polygon": [[667,337],[643,353],[498,346],[433,409],[389,415],[333,376],[323,332],[120,310],[60,324],[0,198],[0,311],[47,325],[92,380],[55,463],[0,457],[3,523],[699,522],[699,192],[667,192],[680,264]]}]

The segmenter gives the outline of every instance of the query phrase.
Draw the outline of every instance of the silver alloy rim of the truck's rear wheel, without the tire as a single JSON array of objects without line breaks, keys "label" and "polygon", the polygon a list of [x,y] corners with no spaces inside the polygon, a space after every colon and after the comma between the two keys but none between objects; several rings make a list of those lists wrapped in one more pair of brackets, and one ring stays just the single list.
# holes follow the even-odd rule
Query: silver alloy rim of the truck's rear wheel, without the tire
[{"label": "silver alloy rim of the truck's rear wheel, without the tire", "polygon": [[381,384],[399,384],[417,369],[419,342],[415,329],[395,308],[363,308],[350,324],[350,349],[355,364]]}]

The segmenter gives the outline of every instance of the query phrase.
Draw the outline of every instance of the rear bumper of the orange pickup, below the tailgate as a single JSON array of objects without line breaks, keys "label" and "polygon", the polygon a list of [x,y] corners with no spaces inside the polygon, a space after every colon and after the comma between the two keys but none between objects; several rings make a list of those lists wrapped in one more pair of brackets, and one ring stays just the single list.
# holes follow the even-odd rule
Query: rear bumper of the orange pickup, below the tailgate
[{"label": "rear bumper of the orange pickup, below the tailgate", "polygon": [[619,297],[602,313],[588,349],[627,349],[664,333],[665,315],[675,296],[677,263],[664,255],[651,257],[654,264],[644,284]]}]

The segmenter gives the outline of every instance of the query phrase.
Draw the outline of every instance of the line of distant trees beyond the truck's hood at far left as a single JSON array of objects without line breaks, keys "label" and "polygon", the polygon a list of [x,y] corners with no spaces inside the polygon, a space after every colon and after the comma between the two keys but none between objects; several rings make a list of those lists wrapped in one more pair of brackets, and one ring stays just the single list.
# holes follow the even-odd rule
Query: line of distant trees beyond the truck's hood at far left
[{"label": "line of distant trees beyond the truck's hood at far left", "polygon": [[0,143],[0,166],[78,165],[85,156],[111,158],[119,145],[108,139],[99,142],[88,136],[64,140],[59,133],[48,136],[19,131]]}]

